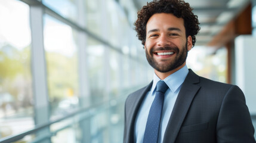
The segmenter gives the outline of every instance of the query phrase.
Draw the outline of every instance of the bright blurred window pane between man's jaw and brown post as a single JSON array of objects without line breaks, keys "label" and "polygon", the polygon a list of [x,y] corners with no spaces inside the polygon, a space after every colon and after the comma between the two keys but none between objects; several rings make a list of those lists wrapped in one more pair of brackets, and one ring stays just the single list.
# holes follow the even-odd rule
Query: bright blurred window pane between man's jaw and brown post
[{"label": "bright blurred window pane between man's jaw and brown post", "polygon": [[227,82],[227,49],[194,47],[187,56],[187,66],[199,75],[219,82]]}]

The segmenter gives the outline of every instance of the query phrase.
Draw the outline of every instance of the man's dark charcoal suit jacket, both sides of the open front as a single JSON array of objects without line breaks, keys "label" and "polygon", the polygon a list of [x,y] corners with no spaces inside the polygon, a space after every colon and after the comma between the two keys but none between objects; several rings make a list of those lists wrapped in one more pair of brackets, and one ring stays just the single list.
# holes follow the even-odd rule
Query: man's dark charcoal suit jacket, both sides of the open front
[{"label": "man's dark charcoal suit jacket, both sides of the open front", "polygon": [[[130,94],[125,102],[125,143],[134,142],[135,117],[152,83]],[[163,142],[255,142],[243,92],[238,86],[214,82],[189,70]]]}]

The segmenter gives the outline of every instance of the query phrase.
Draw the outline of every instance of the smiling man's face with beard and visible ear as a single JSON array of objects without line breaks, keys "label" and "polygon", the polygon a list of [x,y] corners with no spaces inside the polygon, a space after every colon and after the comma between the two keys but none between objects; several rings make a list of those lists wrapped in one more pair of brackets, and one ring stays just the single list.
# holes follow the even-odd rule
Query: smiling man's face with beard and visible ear
[{"label": "smiling man's face with beard and visible ear", "polygon": [[147,61],[156,71],[177,71],[186,64],[192,38],[186,38],[183,18],[173,14],[154,14],[146,25],[145,51]]}]

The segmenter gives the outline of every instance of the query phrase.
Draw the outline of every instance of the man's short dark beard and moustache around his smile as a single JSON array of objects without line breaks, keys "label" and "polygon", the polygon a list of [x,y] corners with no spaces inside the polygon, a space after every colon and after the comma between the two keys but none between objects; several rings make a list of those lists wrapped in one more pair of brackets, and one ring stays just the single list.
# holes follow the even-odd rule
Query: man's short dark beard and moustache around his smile
[{"label": "man's short dark beard and moustache around his smile", "polygon": [[[146,45],[145,45],[145,48],[146,48]],[[153,58],[153,55],[154,55],[154,51],[156,50],[171,50],[171,51],[174,51],[175,52],[175,57],[174,57],[174,60],[169,60],[169,61],[166,61],[165,64],[161,64],[161,63],[158,63],[154,58]],[[168,71],[171,71],[171,70],[174,70],[176,69],[177,67],[180,67],[185,61],[186,61],[186,58],[187,58],[187,42],[186,42],[186,45],[184,45],[181,50],[178,49],[177,46],[165,46],[165,47],[160,47],[160,48],[152,48],[150,49],[150,51],[147,51],[147,48],[146,48],[146,57],[147,57],[147,61],[149,62],[150,66],[153,67],[153,69],[161,72],[161,73],[166,73]]]}]

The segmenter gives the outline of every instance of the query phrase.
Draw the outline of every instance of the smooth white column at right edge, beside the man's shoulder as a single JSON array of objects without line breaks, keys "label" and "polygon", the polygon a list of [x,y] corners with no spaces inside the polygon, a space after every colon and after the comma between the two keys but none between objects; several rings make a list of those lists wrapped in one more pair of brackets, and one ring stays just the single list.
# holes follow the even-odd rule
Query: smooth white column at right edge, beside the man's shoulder
[{"label": "smooth white column at right edge, beside the man's shoulder", "polygon": [[241,35],[235,39],[236,85],[245,94],[246,104],[251,114],[256,114],[256,38]]}]

